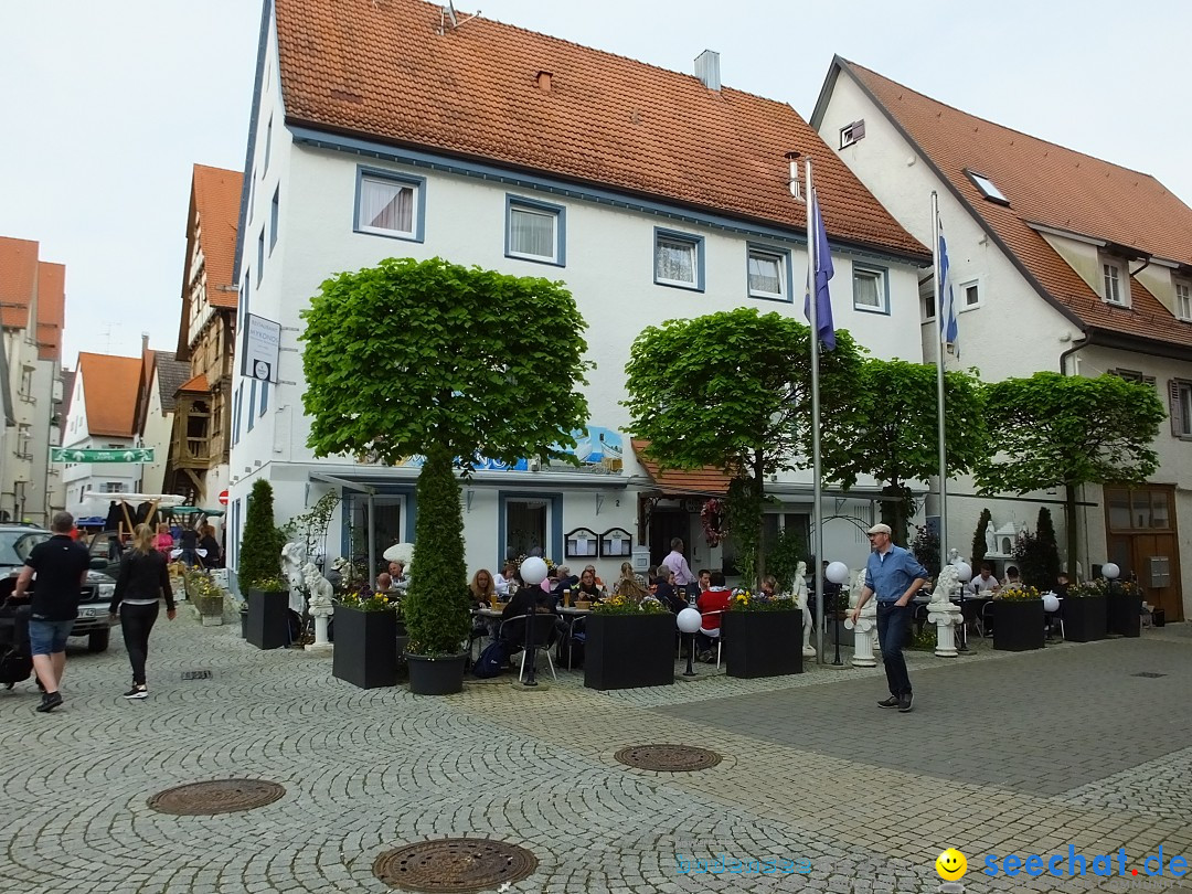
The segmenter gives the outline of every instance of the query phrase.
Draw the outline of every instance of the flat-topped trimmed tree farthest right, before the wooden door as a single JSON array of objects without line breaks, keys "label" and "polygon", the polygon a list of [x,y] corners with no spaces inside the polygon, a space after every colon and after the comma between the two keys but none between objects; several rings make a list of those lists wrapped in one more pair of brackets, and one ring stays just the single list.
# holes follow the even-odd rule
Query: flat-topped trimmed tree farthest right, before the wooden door
[{"label": "flat-topped trimmed tree farthest right, before the wooden door", "polygon": [[1144,482],[1166,412],[1154,386],[1117,375],[1087,379],[1038,372],[987,386],[997,454],[976,472],[985,493],[1063,488],[1068,573],[1076,572],[1076,488]]}]

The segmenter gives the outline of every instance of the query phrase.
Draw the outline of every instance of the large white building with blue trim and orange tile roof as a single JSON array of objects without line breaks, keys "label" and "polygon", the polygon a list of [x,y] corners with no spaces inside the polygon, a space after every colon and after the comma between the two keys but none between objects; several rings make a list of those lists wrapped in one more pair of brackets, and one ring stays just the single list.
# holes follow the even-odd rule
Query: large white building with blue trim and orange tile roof
[{"label": "large white building with blue trim and orange tile roof", "polygon": [[[446,21],[446,25],[443,24]],[[356,51],[367,36],[367,51]],[[283,48],[279,55],[279,46]],[[416,468],[315,460],[306,447],[300,311],[330,274],[390,256],[563,280],[589,324],[597,368],[582,471],[480,470],[464,490],[470,570],[542,546],[615,577],[631,546],[658,561],[669,539],[693,566],[724,555],[699,510],[724,492],[702,473],[651,476],[625,432],[623,366],[651,323],[738,306],[802,313],[806,205],[787,154],[815,162],[832,246],[836,322],[879,356],[918,359],[918,283],[930,255],[789,106],[724,87],[716,54],[697,76],[484,18],[458,27],[437,5],[267,1],[244,164],[236,271],[240,322],[280,325],[272,381],[232,399],[230,564],[259,476],[278,520],[339,491],[328,553],[412,539]],[[384,325],[384,321],[378,321]],[[483,337],[478,333],[478,337]],[[806,528],[808,476],[770,485],[769,530]],[[827,552],[859,561],[873,488],[825,501]],[[844,520],[837,519],[837,516]],[[355,536],[354,536],[355,535]]]}]

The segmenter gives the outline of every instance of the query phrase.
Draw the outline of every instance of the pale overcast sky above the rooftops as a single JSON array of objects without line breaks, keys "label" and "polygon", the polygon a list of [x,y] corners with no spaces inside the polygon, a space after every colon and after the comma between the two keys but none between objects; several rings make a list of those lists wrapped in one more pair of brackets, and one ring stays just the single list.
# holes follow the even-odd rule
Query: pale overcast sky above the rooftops
[{"label": "pale overcast sky above the rooftops", "polygon": [[[679,72],[716,50],[726,86],[803,118],[839,54],[1153,174],[1192,204],[1184,0],[480,0],[480,10]],[[79,350],[135,354],[142,331],[154,347],[176,346],[191,166],[243,168],[259,23],[256,0],[37,0],[0,11],[0,235],[38,241],[42,260],[67,266],[66,366]]]}]

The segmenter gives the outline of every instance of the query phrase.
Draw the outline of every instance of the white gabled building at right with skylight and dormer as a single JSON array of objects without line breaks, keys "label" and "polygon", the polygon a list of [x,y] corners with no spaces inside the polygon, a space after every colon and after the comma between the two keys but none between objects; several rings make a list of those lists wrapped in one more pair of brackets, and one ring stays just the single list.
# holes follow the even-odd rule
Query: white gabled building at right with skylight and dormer
[{"label": "white gabled building at right with skylight and dormer", "polygon": [[[1154,178],[937,103],[837,57],[812,124],[867,187],[930,243],[930,194],[951,262],[961,359],[988,380],[1041,370],[1116,373],[1153,384],[1171,423],[1143,486],[1086,486],[1078,529],[1087,570],[1135,572],[1168,620],[1188,614],[1192,564],[1192,209]],[[931,284],[924,356],[937,356]],[[994,421],[995,422],[995,421]],[[1091,435],[1098,421],[1088,420]],[[1063,491],[1029,502],[974,495],[952,482],[948,539],[968,551],[977,515],[1033,528],[1050,505],[1064,542]],[[1109,511],[1105,511],[1109,507]],[[929,508],[929,511],[931,509]]]}]

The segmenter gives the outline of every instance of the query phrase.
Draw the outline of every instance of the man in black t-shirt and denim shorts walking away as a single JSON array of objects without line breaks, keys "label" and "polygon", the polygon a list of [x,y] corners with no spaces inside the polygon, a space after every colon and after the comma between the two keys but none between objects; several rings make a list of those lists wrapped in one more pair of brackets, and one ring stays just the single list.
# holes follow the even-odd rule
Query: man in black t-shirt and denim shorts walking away
[{"label": "man in black t-shirt and denim shorts walking away", "polygon": [[42,703],[37,706],[37,710],[43,713],[62,703],[58,683],[67,664],[67,638],[79,616],[79,600],[91,563],[87,547],[70,539],[73,528],[74,516],[70,513],[55,513],[50,526],[54,536],[30,551],[13,590],[14,598],[25,598],[25,591],[36,576],[29,642],[33,670],[45,689]]}]

